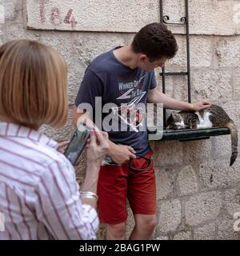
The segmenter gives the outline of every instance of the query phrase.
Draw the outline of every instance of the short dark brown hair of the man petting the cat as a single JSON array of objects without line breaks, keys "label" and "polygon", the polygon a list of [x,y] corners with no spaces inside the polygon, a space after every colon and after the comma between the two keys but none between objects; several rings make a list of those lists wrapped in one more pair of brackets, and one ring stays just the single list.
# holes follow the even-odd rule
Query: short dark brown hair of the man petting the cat
[{"label": "short dark brown hair of the man petting the cat", "polygon": [[162,57],[173,58],[178,51],[174,34],[165,25],[157,22],[139,30],[131,46],[136,54],[146,54],[150,62]]}]

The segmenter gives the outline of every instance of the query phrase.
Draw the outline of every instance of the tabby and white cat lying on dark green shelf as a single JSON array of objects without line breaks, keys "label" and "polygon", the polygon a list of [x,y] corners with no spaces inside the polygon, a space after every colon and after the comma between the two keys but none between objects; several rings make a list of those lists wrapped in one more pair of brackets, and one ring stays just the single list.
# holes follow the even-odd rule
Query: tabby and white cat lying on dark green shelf
[{"label": "tabby and white cat lying on dark green shelf", "polygon": [[203,129],[225,126],[230,129],[232,154],[230,166],[238,156],[238,130],[234,121],[230,119],[221,106],[212,105],[206,110],[180,111],[172,113],[166,121],[166,129]]}]

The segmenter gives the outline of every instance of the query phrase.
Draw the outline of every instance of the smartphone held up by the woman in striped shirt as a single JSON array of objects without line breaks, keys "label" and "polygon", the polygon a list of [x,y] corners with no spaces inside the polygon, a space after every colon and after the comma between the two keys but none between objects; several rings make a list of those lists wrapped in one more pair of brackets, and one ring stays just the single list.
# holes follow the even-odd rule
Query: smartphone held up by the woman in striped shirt
[{"label": "smartphone held up by the woman in striped shirt", "polygon": [[66,147],[64,155],[73,166],[82,154],[82,151],[86,146],[87,139],[90,138],[90,131],[90,127],[80,123],[78,128],[75,130],[73,137],[70,139],[70,143]]}]

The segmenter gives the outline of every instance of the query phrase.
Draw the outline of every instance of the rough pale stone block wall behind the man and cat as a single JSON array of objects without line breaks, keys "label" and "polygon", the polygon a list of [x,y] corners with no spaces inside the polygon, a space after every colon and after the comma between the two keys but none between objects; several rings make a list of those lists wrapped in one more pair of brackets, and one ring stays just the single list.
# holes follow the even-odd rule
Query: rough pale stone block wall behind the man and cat
[{"label": "rough pale stone block wall behind the man and cat", "polygon": [[[6,0],[0,1],[0,4],[3,2],[5,18],[0,22],[0,42],[14,38],[30,38],[58,50],[69,66],[69,103],[74,102],[82,75],[90,61],[116,45],[126,45],[134,35],[26,30],[23,2]],[[173,17],[177,17],[177,4],[182,6],[181,2],[166,2],[166,5],[173,8]],[[233,21],[233,18],[238,16],[233,5],[238,7],[239,3],[214,0],[203,1],[200,6],[199,2],[190,1],[190,26],[194,32],[190,37],[193,99],[210,98],[212,102],[221,104],[238,127],[240,35],[237,34],[240,23],[226,20]],[[166,9],[166,14],[168,11]],[[202,22],[194,19],[196,15],[201,16]],[[219,16],[222,17],[220,21]],[[134,16],[132,18],[134,20]],[[167,70],[186,68],[184,37],[181,34],[176,37],[179,52],[167,65]],[[159,71],[156,70],[156,74],[161,85]],[[168,94],[186,100],[186,78],[167,78],[166,82]],[[42,131],[58,141],[69,139],[74,131],[71,110],[69,120],[61,130],[43,126]],[[229,167],[230,137],[221,136],[184,143],[152,142],[151,145],[155,151],[154,166],[158,187],[158,226],[154,238],[238,239],[239,232],[234,232],[233,229],[233,216],[235,212],[240,211],[240,161],[238,159],[234,167]],[[85,166],[83,156],[76,170],[79,182],[82,182]],[[134,226],[130,210],[129,214],[128,234]],[[98,232],[99,239],[104,238],[104,232],[102,226]]]}]

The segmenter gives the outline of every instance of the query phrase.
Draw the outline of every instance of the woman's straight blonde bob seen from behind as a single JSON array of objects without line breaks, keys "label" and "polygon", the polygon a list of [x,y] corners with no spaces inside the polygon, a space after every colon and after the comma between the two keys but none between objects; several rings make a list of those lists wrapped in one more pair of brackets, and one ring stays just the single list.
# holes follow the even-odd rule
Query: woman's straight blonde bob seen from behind
[{"label": "woman's straight blonde bob seen from behind", "polygon": [[22,126],[61,127],[67,118],[66,63],[39,42],[0,47],[0,115]]}]

